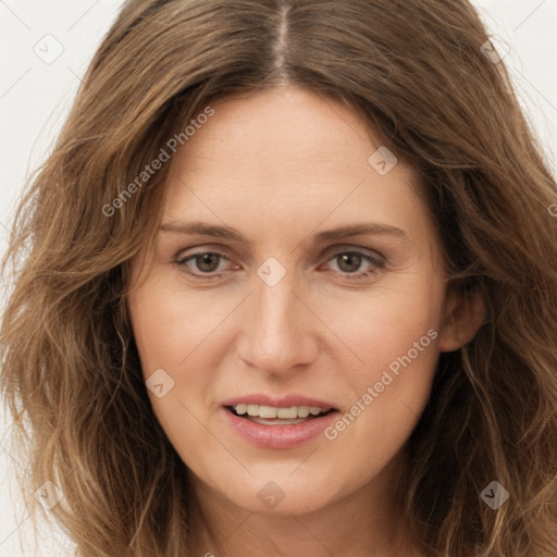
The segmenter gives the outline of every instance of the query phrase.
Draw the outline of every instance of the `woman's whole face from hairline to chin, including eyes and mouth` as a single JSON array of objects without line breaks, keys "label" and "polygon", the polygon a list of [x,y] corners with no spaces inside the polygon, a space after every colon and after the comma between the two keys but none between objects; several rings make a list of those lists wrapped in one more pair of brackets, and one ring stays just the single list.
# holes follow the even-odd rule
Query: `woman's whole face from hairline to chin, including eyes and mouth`
[{"label": "woman's whole face from hairline to chin, including eyes and mouth", "polygon": [[133,265],[157,419],[214,500],[299,513],[392,493],[457,347],[412,171],[304,89],[213,109],[174,156],[153,264]]}]

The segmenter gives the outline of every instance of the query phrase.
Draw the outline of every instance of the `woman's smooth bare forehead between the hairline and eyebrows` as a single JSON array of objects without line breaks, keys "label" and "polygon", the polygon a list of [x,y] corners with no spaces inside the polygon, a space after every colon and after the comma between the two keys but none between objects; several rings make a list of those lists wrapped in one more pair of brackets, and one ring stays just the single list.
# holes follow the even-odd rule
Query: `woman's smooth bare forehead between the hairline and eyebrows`
[{"label": "woman's smooth bare forehead between the hairline and eyebrows", "polygon": [[240,219],[274,233],[324,219],[331,226],[426,225],[412,169],[399,160],[380,174],[372,163],[384,147],[348,107],[295,87],[211,107],[214,114],[174,156],[166,220]]}]

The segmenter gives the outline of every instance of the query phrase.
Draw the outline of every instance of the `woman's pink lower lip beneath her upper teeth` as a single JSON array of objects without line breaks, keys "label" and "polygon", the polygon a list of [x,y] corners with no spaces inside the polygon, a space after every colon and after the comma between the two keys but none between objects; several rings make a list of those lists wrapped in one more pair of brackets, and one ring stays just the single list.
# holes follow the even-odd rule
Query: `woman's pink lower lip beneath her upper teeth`
[{"label": "woman's pink lower lip beneath her upper teeth", "polygon": [[336,418],[338,411],[311,418],[293,425],[264,425],[222,409],[233,430],[245,441],[263,448],[292,448],[317,437]]}]

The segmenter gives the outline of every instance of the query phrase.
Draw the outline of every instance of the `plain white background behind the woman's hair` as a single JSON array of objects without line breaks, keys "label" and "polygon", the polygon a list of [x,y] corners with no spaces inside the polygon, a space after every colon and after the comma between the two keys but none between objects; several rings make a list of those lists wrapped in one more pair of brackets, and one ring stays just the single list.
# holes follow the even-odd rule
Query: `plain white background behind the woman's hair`
[{"label": "plain white background behind the woman's hair", "polygon": [[[120,0],[0,0],[0,252],[14,199],[45,160],[79,79],[114,20]],[[490,33],[510,46],[505,57],[521,104],[557,174],[557,0],[474,0]],[[45,38],[51,35],[54,38]],[[47,44],[47,45],[46,45]],[[39,58],[53,55],[52,63]],[[37,52],[38,53],[37,53]],[[48,62],[50,60],[47,60]],[[557,202],[557,199],[556,199]],[[557,219],[556,219],[557,226]],[[2,295],[0,293],[0,299]],[[0,412],[0,557],[65,555],[64,537],[44,525],[37,548],[17,497]],[[18,534],[24,546],[20,545]]]}]

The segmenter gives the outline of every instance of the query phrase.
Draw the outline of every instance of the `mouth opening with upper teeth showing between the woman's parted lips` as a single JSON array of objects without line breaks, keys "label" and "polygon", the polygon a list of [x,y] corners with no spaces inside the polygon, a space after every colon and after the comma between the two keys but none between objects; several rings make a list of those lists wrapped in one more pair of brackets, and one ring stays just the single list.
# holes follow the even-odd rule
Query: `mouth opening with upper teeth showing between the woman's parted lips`
[{"label": "mouth opening with upper teeth showing between the woman's parted lips", "polygon": [[237,404],[225,407],[228,412],[262,425],[296,425],[327,416],[334,408],[318,406],[276,407],[252,404]]}]

